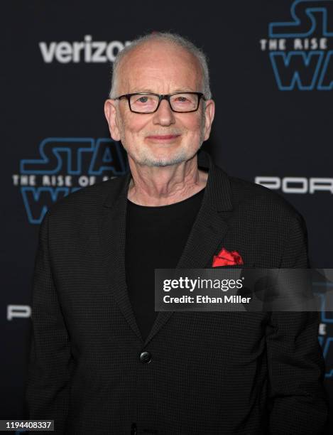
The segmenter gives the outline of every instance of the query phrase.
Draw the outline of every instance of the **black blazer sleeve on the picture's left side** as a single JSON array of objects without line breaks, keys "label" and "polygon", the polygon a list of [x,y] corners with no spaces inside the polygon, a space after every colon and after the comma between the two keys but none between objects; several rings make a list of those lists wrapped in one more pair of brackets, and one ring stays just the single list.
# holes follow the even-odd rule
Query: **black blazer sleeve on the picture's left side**
[{"label": "black blazer sleeve on the picture's left side", "polygon": [[50,212],[40,224],[33,271],[32,340],[26,382],[29,419],[54,419],[65,433],[70,396],[70,340],[53,281],[48,246]]}]

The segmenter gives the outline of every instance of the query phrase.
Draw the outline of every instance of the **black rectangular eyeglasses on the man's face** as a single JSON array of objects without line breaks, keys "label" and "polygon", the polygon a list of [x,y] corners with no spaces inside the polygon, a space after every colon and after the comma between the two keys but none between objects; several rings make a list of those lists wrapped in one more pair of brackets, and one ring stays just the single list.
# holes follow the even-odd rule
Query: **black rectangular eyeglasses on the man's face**
[{"label": "black rectangular eyeglasses on the man's face", "polygon": [[173,112],[195,112],[200,103],[200,98],[206,100],[202,92],[173,92],[173,94],[151,94],[150,92],[136,92],[124,94],[114,98],[120,100],[126,98],[129,109],[134,113],[154,113],[160,107],[162,100],[168,100]]}]

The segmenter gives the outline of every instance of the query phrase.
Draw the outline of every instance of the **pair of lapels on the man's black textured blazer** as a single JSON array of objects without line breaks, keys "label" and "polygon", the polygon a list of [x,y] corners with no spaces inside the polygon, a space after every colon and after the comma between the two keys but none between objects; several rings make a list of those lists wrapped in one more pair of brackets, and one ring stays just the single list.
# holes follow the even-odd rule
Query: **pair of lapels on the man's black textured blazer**
[{"label": "pair of lapels on the man's black textured blazer", "polygon": [[[204,151],[198,153],[198,166],[209,169],[202,205],[178,261],[176,269],[205,269],[212,265],[212,257],[222,244],[228,225],[226,215],[232,210],[229,177],[214,165]],[[102,267],[107,270],[109,291],[132,330],[142,341],[136,324],[126,286],[125,238],[126,205],[131,172],[119,177],[104,201],[104,213],[100,226]],[[160,311],[153,328],[144,342],[146,345],[160,331],[174,311]]]}]

